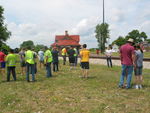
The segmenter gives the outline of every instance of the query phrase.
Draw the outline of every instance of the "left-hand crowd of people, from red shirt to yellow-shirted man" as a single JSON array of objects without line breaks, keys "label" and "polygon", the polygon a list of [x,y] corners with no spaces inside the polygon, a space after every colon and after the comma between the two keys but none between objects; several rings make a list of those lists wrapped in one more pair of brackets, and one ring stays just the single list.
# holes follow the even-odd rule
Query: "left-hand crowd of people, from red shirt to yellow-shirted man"
[{"label": "left-hand crowd of people, from red shirt to yellow-shirted man", "polygon": [[[87,78],[90,52],[86,49],[86,47],[87,45],[84,44],[80,52],[78,52],[77,48],[72,46],[68,49],[63,48],[61,50],[61,55],[63,57],[63,65],[66,65],[66,56],[68,56],[70,70],[77,66],[78,56],[81,56],[81,67],[83,69],[83,77]],[[46,77],[52,77],[52,70],[53,72],[59,71],[59,53],[60,51],[58,51],[57,47],[53,47],[52,50],[45,47],[38,51],[38,53],[36,53],[35,50],[31,47],[22,48],[18,55],[14,53],[13,49],[10,49],[8,55],[0,51],[0,75],[2,75],[4,79],[6,67],[7,81],[10,81],[11,74],[14,81],[16,81],[16,67],[18,67],[18,65],[16,64],[18,62],[18,57],[20,57],[21,75],[26,75],[27,82],[36,81],[35,75],[37,73],[37,70],[40,70],[44,67],[46,69]],[[37,69],[37,67],[39,68]],[[32,75],[32,80],[30,80],[30,75]]]}]

